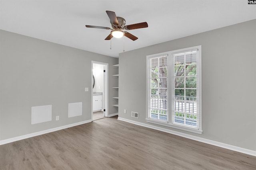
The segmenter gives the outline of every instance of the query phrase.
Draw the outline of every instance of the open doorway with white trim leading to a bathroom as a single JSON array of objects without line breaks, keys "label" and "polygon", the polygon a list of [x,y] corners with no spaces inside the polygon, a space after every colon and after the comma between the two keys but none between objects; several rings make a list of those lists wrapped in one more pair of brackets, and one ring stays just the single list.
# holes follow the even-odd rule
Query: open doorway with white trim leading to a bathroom
[{"label": "open doorway with white trim leading to a bathroom", "polygon": [[108,117],[108,63],[92,61],[92,121]]}]

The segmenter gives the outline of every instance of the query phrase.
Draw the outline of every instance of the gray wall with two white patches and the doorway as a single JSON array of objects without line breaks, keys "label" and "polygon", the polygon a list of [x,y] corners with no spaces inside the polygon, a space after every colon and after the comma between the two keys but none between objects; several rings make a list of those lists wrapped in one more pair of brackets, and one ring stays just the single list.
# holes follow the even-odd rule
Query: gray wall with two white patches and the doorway
[{"label": "gray wall with two white patches and the doorway", "polygon": [[[0,30],[0,140],[91,119],[91,61],[109,64],[108,108],[116,113],[117,58]],[[82,102],[82,116],[68,118],[75,102]],[[31,125],[31,107],[43,105],[52,105],[52,121]]]}]

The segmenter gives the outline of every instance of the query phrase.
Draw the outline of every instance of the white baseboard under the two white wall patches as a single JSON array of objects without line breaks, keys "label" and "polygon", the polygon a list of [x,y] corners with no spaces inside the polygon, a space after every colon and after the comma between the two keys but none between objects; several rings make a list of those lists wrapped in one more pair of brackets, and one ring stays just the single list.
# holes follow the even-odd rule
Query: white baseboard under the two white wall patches
[{"label": "white baseboard under the two white wall patches", "polygon": [[85,124],[85,123],[90,123],[91,121],[92,121],[91,119],[90,120],[86,120],[86,121],[80,121],[80,122],[77,122],[77,123],[72,123],[72,124],[69,124],[69,125],[55,127],[55,128],[47,129],[47,130],[44,130],[44,131],[30,133],[30,134],[27,134],[27,135],[13,137],[13,138],[10,138],[10,139],[4,139],[4,140],[0,141],[0,145],[4,145],[6,143],[11,143],[11,142],[19,141],[19,140],[22,140],[22,139],[27,139],[27,138],[30,138],[30,137],[35,137],[35,136],[38,136],[38,135],[43,135],[43,134],[54,132],[54,131],[59,131],[59,130],[62,130],[62,129],[66,129],[66,128],[77,126],[77,125],[82,125],[82,124]]}]

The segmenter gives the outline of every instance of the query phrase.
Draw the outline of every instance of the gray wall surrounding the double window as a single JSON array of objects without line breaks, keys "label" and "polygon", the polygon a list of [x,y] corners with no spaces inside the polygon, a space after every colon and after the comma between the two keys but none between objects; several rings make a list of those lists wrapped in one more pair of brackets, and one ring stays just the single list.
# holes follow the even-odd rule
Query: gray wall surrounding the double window
[{"label": "gray wall surrounding the double window", "polygon": [[[146,55],[196,45],[202,45],[202,135],[147,123]],[[256,150],[255,49],[256,20],[251,20],[121,53],[119,117]],[[139,112],[139,119],[131,111]]]}]

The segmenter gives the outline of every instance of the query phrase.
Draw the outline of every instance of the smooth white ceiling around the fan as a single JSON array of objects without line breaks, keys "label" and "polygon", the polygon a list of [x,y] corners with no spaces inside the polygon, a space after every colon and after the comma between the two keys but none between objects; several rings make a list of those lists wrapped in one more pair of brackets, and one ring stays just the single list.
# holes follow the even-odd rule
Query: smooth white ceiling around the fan
[{"label": "smooth white ceiling around the fan", "polygon": [[[111,27],[106,10],[126,25],[146,21],[148,28],[127,37],[104,40]],[[29,37],[118,57],[125,51],[256,19],[247,0],[0,0],[0,29]]]}]

